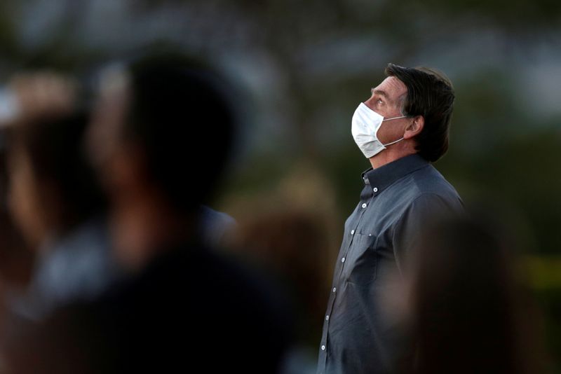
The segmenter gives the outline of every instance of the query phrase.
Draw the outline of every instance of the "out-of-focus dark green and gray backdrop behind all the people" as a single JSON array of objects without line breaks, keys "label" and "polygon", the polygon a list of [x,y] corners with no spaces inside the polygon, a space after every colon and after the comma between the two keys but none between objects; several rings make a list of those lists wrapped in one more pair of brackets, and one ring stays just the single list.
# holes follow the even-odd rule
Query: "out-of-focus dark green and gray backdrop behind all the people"
[{"label": "out-of-focus dark green and gray backdrop behind all the people", "polygon": [[0,3],[4,81],[46,67],[87,78],[163,41],[245,88],[245,127],[215,207],[241,223],[280,207],[316,214],[329,275],[369,167],[351,137],[353,111],[388,62],[444,71],[457,101],[450,151],[436,166],[467,205],[511,228],[543,314],[548,366],[561,373],[559,1]]}]

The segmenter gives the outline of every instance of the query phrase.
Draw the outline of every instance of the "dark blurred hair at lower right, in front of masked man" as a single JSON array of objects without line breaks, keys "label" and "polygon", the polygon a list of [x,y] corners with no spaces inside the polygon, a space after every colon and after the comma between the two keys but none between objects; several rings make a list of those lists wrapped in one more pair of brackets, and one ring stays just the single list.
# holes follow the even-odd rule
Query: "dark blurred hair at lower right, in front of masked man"
[{"label": "dark blurred hair at lower right, in front of masked man", "polygon": [[536,373],[535,310],[513,246],[480,220],[424,233],[411,293],[419,374]]}]

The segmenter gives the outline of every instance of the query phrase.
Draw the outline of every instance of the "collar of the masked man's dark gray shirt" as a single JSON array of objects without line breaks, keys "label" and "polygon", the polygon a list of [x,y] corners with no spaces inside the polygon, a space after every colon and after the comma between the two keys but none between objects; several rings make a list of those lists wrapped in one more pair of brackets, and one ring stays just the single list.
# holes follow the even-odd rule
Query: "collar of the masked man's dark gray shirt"
[{"label": "collar of the masked man's dark gray shirt", "polygon": [[426,165],[428,165],[428,161],[417,153],[407,155],[377,169],[370,167],[363,172],[363,181],[365,184],[370,184],[374,195],[377,195],[391,186],[393,182]]}]

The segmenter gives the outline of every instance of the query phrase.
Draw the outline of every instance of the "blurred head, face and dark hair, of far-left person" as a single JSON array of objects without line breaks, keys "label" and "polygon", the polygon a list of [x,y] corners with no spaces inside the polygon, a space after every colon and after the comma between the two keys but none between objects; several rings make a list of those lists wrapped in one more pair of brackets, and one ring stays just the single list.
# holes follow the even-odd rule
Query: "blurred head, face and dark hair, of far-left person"
[{"label": "blurred head, face and dark hair, of far-left person", "polygon": [[104,210],[83,151],[88,121],[83,112],[46,113],[8,130],[8,202],[34,247]]}]

